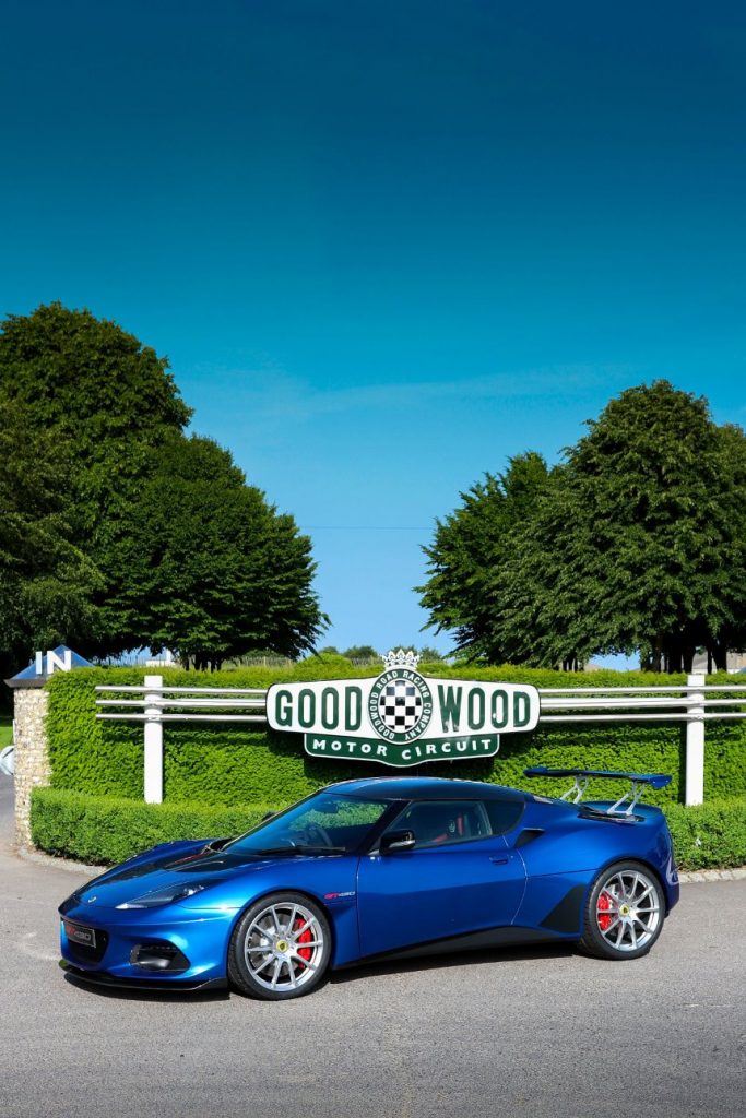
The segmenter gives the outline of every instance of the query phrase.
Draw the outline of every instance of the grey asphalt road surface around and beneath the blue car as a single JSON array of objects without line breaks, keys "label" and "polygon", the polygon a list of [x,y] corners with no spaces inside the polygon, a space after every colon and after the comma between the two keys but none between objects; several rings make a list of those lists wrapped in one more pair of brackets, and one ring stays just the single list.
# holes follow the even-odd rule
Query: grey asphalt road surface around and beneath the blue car
[{"label": "grey asphalt road surface around and beneath the blue car", "polygon": [[296,1002],[111,993],[57,967],[82,880],[9,845],[2,1118],[746,1114],[746,881],[689,884],[651,955],[533,948],[346,972]]}]

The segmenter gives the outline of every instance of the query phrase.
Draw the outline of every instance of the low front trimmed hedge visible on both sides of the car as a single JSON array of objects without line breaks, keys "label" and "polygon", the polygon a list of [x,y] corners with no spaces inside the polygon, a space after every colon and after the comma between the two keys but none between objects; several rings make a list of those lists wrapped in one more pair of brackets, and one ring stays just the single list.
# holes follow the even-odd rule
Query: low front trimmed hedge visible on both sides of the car
[{"label": "low front trimmed hedge visible on both sides of the car", "polygon": [[[56,788],[35,788],[31,835],[35,845],[50,854],[111,865],[172,839],[240,834],[277,806],[143,804]],[[746,863],[746,797],[715,800],[700,807],[669,804],[665,815],[680,869]]]}]

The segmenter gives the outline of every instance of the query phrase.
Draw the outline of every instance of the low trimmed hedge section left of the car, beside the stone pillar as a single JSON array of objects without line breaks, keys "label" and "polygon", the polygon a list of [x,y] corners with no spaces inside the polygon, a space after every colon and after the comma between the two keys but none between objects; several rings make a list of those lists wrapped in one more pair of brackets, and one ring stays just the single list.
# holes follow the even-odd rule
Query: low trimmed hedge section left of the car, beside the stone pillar
[{"label": "low trimmed hedge section left of the car, beside the stone pillar", "polygon": [[267,812],[264,804],[208,807],[205,804],[145,804],[113,796],[35,788],[31,839],[49,854],[92,865],[115,865],[174,839],[239,835]]}]

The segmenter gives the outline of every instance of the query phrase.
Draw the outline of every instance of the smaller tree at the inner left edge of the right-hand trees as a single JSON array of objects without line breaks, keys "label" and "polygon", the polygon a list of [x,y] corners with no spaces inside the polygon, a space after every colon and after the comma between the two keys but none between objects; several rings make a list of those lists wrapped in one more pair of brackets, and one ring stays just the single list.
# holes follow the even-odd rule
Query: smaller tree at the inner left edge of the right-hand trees
[{"label": "smaller tree at the inner left edge of the right-hand trees", "polygon": [[507,660],[498,624],[499,585],[511,558],[509,536],[531,518],[550,472],[540,454],[509,459],[501,474],[487,474],[462,504],[438,520],[434,542],[424,548],[429,577],[416,587],[429,612],[428,625],[453,633],[457,651]]}]

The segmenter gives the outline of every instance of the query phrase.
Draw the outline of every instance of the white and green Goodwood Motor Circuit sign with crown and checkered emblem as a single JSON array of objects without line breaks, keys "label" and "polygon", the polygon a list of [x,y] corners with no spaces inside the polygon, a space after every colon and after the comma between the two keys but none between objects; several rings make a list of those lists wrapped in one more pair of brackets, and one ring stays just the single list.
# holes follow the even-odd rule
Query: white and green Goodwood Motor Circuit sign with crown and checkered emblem
[{"label": "white and green Goodwood Motor Circuit sign with crown and checkered emblem", "polygon": [[312,757],[406,766],[493,757],[500,733],[539,720],[539,692],[527,684],[428,679],[402,650],[384,665],[377,679],[273,684],[270,726],[302,733]]}]

